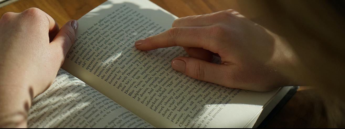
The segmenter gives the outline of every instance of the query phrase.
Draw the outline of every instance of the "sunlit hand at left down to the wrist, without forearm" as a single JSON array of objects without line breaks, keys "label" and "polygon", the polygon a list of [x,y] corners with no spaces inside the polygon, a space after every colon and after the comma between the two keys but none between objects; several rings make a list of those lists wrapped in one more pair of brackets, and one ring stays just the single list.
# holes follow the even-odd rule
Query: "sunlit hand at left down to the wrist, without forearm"
[{"label": "sunlit hand at left down to the wrist, without forearm", "polygon": [[51,16],[37,8],[3,14],[0,86],[30,86],[34,95],[43,92],[55,79],[77,26],[77,21],[71,20],[60,30]]}]

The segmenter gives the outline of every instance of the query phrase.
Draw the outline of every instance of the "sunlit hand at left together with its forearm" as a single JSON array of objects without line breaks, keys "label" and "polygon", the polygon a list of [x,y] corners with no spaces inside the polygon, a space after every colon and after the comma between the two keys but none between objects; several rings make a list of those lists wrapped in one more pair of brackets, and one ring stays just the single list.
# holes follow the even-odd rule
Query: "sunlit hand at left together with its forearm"
[{"label": "sunlit hand at left together with its forearm", "polygon": [[30,8],[0,19],[0,127],[26,127],[31,99],[55,79],[75,38],[76,20],[59,26]]}]

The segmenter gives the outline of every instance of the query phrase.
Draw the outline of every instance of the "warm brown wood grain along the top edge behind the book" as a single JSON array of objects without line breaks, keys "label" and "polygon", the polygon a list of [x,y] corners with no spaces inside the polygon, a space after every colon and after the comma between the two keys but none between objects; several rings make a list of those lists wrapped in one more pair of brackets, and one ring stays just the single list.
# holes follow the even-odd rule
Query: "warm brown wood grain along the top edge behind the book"
[{"label": "warm brown wood grain along the top edge behind the book", "polygon": [[[70,19],[79,19],[87,12],[96,8],[106,0],[19,0],[0,8],[0,16],[6,12],[22,12],[28,8],[36,7],[45,11],[59,26]],[[178,17],[200,15],[218,12],[226,9],[234,9],[244,14],[249,19],[255,19],[264,12],[254,11],[253,8],[240,8],[248,0],[151,0],[163,9]],[[256,4],[257,2],[252,2]]]}]

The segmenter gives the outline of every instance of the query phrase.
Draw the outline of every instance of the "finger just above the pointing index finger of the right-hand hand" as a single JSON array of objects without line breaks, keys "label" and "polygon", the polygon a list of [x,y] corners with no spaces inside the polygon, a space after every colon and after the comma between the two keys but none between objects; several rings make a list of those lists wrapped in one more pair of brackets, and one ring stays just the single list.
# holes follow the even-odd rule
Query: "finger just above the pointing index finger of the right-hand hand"
[{"label": "finger just above the pointing index finger of the right-hand hand", "polygon": [[232,14],[240,15],[237,11],[229,9],[204,15],[186,16],[176,19],[172,23],[172,27],[215,25],[219,22],[227,21],[227,17]]}]

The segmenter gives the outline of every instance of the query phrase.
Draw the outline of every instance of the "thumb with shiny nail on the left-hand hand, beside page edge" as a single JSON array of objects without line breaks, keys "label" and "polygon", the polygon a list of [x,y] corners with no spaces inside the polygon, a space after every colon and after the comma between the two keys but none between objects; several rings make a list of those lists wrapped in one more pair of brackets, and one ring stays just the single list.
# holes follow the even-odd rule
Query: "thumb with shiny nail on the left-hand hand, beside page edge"
[{"label": "thumb with shiny nail on the left-hand hand, beside page edge", "polygon": [[57,59],[60,59],[61,62],[65,59],[68,50],[74,42],[77,28],[78,22],[76,20],[68,21],[61,27],[59,33],[50,43],[52,51],[56,52],[56,55],[58,56]]}]

